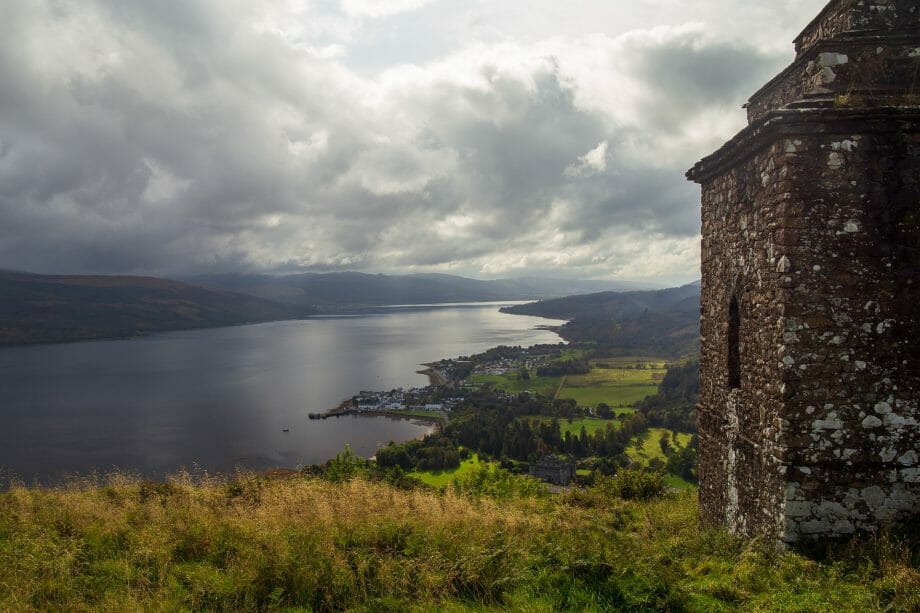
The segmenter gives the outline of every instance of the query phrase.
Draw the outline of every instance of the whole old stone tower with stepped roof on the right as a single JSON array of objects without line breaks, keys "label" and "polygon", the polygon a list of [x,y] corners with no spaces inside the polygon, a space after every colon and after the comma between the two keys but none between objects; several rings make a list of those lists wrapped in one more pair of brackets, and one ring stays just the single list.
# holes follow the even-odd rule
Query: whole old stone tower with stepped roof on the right
[{"label": "whole old stone tower with stepped roof on the right", "polygon": [[703,521],[920,515],[920,2],[834,0],[702,185]]}]

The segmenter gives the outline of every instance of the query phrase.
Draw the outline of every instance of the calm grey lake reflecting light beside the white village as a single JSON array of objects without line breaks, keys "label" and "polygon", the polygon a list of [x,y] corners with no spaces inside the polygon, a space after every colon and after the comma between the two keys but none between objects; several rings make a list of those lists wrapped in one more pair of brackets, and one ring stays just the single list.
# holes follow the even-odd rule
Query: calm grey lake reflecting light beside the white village
[{"label": "calm grey lake reflecting light beside the white village", "polygon": [[427,385],[415,372],[423,362],[559,342],[535,329],[547,323],[497,305],[449,305],[0,349],[0,480],[297,467],[346,443],[372,455],[430,426],[307,414],[362,389]]}]

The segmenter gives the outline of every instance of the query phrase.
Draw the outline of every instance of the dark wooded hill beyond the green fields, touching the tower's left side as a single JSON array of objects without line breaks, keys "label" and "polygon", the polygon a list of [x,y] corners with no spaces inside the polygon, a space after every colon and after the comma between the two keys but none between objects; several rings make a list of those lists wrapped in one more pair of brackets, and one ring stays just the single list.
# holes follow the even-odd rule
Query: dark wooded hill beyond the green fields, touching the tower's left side
[{"label": "dark wooded hill beyond the green fields, touching the tower's left side", "polygon": [[681,357],[700,345],[700,284],[656,291],[601,292],[502,309],[570,320],[559,333],[596,343],[604,354]]}]

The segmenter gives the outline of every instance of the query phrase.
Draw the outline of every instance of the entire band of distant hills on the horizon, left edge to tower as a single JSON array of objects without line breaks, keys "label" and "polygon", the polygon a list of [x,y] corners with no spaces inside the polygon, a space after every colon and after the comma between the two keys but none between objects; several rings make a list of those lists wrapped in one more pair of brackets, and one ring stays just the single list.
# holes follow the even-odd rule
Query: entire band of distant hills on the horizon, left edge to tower
[{"label": "entire band of distant hills on the horizon, left edge to tower", "polygon": [[[301,319],[318,312],[383,305],[533,300],[511,313],[571,318],[668,310],[693,290],[602,292],[638,284],[520,278],[479,281],[453,275],[209,275],[153,277],[36,275],[0,271],[0,345],[125,338],[166,330]],[[696,289],[699,299],[699,289]],[[656,306],[657,305],[657,306]],[[670,311],[669,311],[670,312]],[[592,314],[593,313],[593,314]]]}]

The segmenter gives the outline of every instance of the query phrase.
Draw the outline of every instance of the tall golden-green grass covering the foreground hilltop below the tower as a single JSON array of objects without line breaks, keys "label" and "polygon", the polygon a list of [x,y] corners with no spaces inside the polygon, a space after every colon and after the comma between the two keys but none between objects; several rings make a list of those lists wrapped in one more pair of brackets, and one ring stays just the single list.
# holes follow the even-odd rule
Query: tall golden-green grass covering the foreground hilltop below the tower
[{"label": "tall golden-green grass covering the foreground hilltop below the tower", "polygon": [[920,607],[911,543],[869,539],[816,561],[701,530],[692,491],[610,491],[495,498],[299,477],[16,488],[0,494],[0,609]]}]

